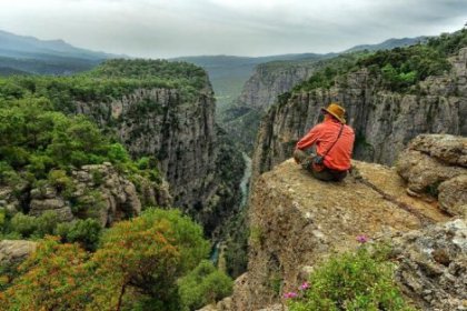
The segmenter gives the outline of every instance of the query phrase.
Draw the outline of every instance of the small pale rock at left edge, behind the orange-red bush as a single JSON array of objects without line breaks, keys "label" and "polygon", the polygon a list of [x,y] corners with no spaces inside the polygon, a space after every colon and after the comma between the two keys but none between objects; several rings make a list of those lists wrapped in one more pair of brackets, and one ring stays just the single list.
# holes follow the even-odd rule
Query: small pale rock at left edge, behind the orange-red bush
[{"label": "small pale rock at left edge, behind the orange-red bush", "polygon": [[36,242],[24,240],[0,241],[0,267],[13,265],[23,261],[36,250]]}]

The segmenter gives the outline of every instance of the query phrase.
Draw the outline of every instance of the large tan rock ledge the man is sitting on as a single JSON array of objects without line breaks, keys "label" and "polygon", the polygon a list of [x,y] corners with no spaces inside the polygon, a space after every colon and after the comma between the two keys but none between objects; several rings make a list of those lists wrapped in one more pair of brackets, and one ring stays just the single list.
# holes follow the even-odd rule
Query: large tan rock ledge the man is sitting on
[{"label": "large tan rock ledge the man is sitting on", "polygon": [[355,249],[356,237],[397,235],[448,220],[434,203],[406,194],[395,169],[355,162],[358,173],[340,183],[312,179],[294,160],[256,182],[250,204],[248,272],[231,310],[280,302],[315,264]]}]

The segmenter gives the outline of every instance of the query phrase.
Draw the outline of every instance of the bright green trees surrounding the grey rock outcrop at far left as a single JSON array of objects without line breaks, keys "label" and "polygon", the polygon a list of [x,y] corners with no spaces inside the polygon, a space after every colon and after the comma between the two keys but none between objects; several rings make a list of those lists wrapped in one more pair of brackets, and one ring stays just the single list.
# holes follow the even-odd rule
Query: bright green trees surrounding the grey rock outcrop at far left
[{"label": "bright green trees surrounding the grey rock outcrop at far left", "polygon": [[60,223],[53,212],[31,217],[26,214],[27,205],[20,211],[0,208],[3,237],[41,238],[60,232],[66,241],[80,241],[93,249],[100,225],[85,219],[97,217],[92,213],[97,201],[71,200],[72,171],[85,164],[110,162],[135,182],[136,177],[160,180],[153,159],[132,161],[126,149],[105,137],[96,124],[82,116],[67,117],[53,111],[52,103],[43,98],[0,100],[0,187],[9,187],[23,201],[30,189],[53,185],[60,195],[70,199],[76,215],[82,218],[74,223]]}]

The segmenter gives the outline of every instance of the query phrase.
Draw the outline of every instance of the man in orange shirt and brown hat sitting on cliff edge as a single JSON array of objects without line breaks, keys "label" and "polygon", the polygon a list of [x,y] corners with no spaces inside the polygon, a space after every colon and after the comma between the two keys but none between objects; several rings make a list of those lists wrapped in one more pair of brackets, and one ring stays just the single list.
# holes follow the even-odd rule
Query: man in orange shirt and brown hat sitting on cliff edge
[{"label": "man in orange shirt and brown hat sitting on cliff edge", "polygon": [[[294,159],[319,180],[340,181],[350,169],[354,149],[354,130],[346,126],[346,110],[337,103],[321,108],[322,123],[315,126],[297,142]],[[307,154],[306,149],[316,144],[317,154]]]}]

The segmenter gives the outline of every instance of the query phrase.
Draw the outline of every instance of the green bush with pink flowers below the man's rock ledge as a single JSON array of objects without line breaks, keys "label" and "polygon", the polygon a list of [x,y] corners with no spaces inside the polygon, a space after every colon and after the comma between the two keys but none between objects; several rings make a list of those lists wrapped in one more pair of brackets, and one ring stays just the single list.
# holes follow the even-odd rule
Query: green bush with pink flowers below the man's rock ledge
[{"label": "green bush with pink flowers below the man's rock ledge", "polygon": [[331,258],[310,275],[299,293],[289,292],[290,311],[413,310],[393,280],[385,252],[365,245]]}]

